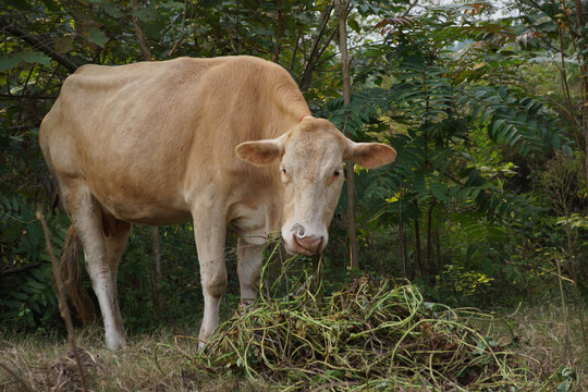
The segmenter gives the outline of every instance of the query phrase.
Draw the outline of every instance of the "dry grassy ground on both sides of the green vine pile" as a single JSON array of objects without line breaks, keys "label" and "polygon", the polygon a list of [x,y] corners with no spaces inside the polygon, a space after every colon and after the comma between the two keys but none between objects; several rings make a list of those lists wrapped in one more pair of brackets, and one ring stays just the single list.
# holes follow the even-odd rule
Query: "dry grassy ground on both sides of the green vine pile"
[{"label": "dry grassy ground on both sides of the green vine pile", "polygon": [[[532,371],[558,377],[567,366],[575,371],[571,391],[588,391],[588,352],[581,344],[576,314],[572,314],[572,352],[564,353],[565,326],[554,302],[540,307],[522,307],[515,314],[480,322],[500,336],[501,344],[516,342],[513,351],[536,358]],[[512,331],[512,332],[511,332]],[[197,331],[185,335],[195,336]],[[105,347],[102,331],[89,328],[77,331],[78,345],[91,391],[259,391],[268,387],[253,384],[234,375],[201,376],[191,370],[186,356],[196,354],[189,338],[167,330],[138,335],[123,351]],[[173,347],[173,348],[170,348]],[[179,354],[181,347],[183,354]],[[185,354],[185,355],[184,355]],[[63,339],[47,336],[7,336],[0,333],[0,363],[12,369],[33,391],[79,390],[75,365],[68,356]],[[555,381],[555,380],[554,380]],[[556,383],[555,383],[556,384]],[[24,391],[14,377],[0,368],[0,391]]]}]

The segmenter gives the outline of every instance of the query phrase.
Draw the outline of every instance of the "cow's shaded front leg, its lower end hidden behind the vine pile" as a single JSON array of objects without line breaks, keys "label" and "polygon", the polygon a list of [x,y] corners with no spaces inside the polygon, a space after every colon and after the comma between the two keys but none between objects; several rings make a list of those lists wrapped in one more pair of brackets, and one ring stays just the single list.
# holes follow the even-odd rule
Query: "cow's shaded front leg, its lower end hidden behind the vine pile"
[{"label": "cow's shaded front leg, its lower end hidden behind the vine pile", "polygon": [[264,245],[252,245],[237,238],[237,273],[241,303],[244,305],[249,305],[257,297],[262,261]]}]

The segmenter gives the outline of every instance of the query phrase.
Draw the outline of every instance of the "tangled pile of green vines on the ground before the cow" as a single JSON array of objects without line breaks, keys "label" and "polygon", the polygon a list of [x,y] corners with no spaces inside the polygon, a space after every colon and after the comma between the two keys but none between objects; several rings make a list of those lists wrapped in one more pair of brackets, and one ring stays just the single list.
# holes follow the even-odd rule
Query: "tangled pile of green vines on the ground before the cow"
[{"label": "tangled pile of green vines on the ground before the cow", "polygon": [[389,279],[362,277],[326,295],[320,260],[293,257],[277,268],[278,255],[275,246],[255,304],[224,322],[203,353],[185,356],[192,371],[203,378],[246,375],[283,390],[558,385],[530,370],[532,358],[471,327],[488,315],[427,303],[415,286]]}]

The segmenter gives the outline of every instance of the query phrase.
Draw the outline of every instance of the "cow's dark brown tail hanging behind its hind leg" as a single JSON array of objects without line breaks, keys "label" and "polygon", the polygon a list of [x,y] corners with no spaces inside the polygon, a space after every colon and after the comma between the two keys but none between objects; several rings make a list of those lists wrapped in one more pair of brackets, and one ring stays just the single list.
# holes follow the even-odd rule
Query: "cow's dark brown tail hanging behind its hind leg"
[{"label": "cow's dark brown tail hanging behind its hind leg", "polygon": [[88,324],[96,320],[96,309],[88,292],[82,285],[79,271],[79,238],[72,226],[65,236],[65,246],[60,260],[61,279],[70,294],[70,299],[77,310],[82,323]]}]

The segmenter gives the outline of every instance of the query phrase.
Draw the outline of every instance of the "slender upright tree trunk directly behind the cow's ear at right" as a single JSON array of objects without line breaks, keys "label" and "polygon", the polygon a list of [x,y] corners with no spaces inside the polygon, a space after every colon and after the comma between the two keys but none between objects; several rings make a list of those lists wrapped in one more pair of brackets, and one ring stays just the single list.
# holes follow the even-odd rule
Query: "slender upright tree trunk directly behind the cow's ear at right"
[{"label": "slender upright tree trunk directly behind the cow's ear at right", "polygon": [[[335,10],[339,17],[339,47],[341,49],[341,69],[343,75],[343,105],[351,101],[350,60],[347,53],[347,7],[348,0],[336,0]],[[345,133],[345,130],[343,130]],[[350,237],[351,268],[359,268],[357,260],[357,231],[355,222],[355,172],[354,163],[345,162],[345,177],[347,179],[347,236]]]}]

